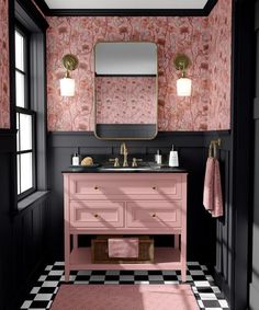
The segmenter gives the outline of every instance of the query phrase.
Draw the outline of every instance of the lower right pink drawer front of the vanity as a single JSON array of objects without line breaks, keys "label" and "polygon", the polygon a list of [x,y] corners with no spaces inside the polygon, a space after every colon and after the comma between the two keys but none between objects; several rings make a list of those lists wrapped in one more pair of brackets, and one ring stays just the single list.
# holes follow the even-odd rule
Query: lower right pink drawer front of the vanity
[{"label": "lower right pink drawer front of the vanity", "polygon": [[181,202],[128,202],[126,227],[181,227]]}]

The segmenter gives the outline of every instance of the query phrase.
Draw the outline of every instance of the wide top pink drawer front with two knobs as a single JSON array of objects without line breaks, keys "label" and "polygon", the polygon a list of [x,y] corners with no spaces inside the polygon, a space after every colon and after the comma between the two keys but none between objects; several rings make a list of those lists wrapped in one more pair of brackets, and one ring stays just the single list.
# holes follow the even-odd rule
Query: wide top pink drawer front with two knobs
[{"label": "wide top pink drawer front with two knobs", "polygon": [[70,176],[70,193],[74,199],[99,195],[170,195],[182,196],[181,175],[174,174],[76,174]]}]

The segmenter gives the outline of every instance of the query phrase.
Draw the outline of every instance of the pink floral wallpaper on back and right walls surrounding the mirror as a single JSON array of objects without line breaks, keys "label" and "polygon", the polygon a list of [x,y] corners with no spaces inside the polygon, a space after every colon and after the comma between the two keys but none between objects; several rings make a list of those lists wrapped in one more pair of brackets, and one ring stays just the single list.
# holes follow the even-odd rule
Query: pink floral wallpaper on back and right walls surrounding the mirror
[{"label": "pink floral wallpaper on back and right walls surrounding the mirror", "polygon": [[[47,18],[48,130],[93,130],[93,46],[99,41],[158,45],[159,130],[229,129],[230,79],[227,74],[223,79],[223,73],[230,67],[230,20],[229,0],[218,0],[209,18]],[[60,59],[67,53],[80,61],[72,72],[74,97],[59,95],[58,80],[65,72]],[[177,53],[192,60],[190,97],[176,93]]]}]

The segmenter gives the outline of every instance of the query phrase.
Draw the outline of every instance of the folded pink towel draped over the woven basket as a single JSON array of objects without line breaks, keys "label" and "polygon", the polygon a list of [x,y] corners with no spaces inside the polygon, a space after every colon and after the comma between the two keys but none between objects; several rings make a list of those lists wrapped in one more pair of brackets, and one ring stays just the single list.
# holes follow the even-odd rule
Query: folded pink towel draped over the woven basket
[{"label": "folded pink towel draped over the woven basket", "polygon": [[138,257],[138,238],[108,239],[109,257]]}]

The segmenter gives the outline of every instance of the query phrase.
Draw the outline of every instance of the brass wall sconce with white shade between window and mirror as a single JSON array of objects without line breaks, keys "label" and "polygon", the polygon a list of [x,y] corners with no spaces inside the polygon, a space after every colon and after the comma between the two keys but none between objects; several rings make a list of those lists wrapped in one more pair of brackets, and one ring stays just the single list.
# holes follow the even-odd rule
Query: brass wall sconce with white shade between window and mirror
[{"label": "brass wall sconce with white shade between window and mirror", "polygon": [[75,55],[67,54],[63,57],[63,66],[66,68],[66,74],[60,79],[60,94],[61,96],[75,95],[75,80],[71,79],[70,72],[77,69],[78,58]]}]

